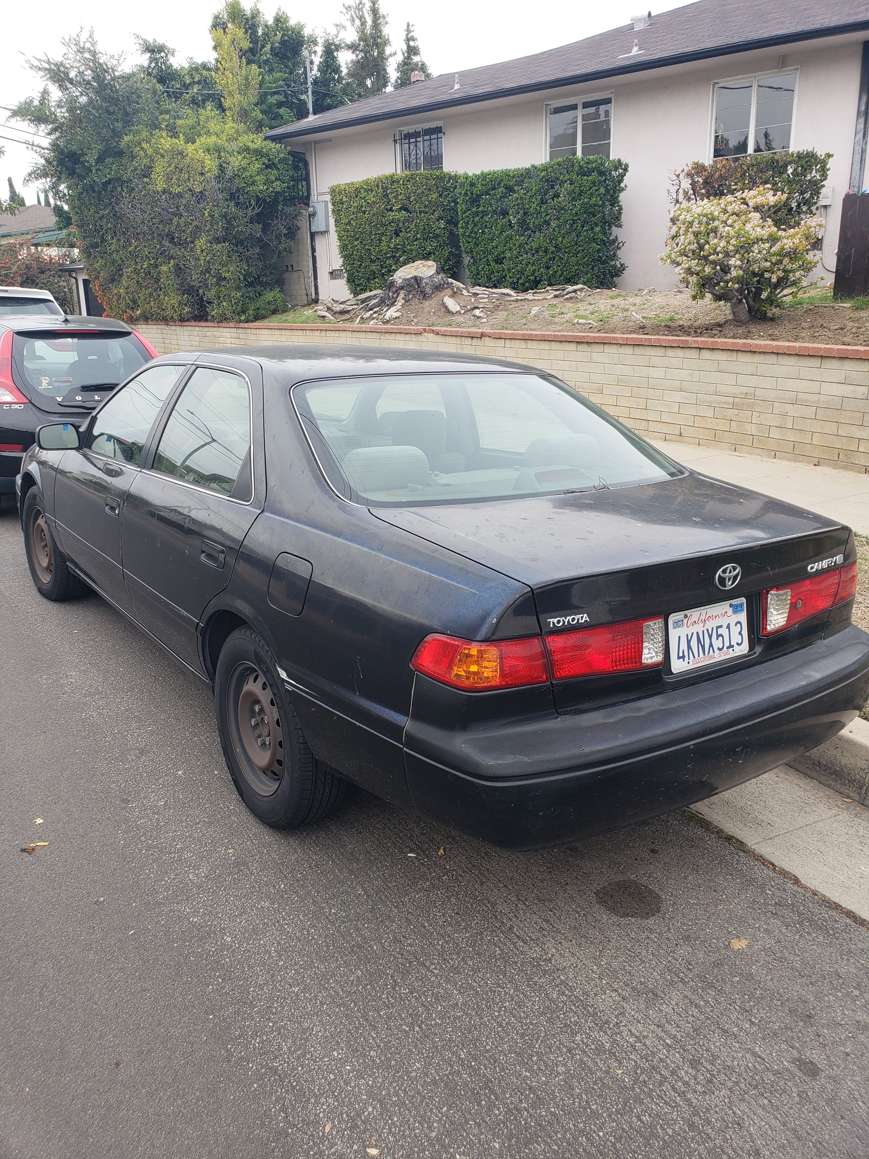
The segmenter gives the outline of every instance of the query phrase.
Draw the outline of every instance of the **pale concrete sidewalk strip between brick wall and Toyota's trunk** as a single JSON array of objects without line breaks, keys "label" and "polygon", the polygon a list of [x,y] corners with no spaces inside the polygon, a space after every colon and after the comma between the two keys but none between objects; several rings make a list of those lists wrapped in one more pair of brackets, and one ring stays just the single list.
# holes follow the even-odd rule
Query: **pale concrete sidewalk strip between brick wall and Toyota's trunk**
[{"label": "pale concrete sidewalk strip between brick wall and Toyota's trunk", "polygon": [[811,467],[755,454],[735,454],[693,443],[650,442],[671,459],[702,471],[704,475],[787,500],[809,511],[839,519],[861,535],[869,535],[869,474]]}]

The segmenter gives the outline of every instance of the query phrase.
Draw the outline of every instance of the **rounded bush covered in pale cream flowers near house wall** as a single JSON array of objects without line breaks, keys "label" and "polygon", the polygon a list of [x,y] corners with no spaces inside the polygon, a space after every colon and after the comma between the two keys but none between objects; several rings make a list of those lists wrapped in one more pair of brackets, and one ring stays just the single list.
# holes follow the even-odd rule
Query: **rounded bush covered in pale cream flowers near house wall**
[{"label": "rounded bush covered in pale cream flowers near house wall", "polygon": [[773,216],[786,195],[772,185],[686,202],[673,210],[660,261],[674,265],[692,297],[729,301],[733,318],[764,318],[802,286],[817,264],[824,223],[782,228]]}]

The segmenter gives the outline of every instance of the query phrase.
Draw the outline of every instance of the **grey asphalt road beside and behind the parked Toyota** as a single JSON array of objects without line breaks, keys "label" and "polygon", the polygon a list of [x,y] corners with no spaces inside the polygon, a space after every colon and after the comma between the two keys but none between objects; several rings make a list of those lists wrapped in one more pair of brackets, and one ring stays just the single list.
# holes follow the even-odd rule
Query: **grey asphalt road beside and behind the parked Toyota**
[{"label": "grey asphalt road beside and behind the parked Toyota", "polygon": [[358,790],[277,833],[10,512],[0,628],[2,1159],[869,1154],[869,933],[725,840],[507,854]]}]

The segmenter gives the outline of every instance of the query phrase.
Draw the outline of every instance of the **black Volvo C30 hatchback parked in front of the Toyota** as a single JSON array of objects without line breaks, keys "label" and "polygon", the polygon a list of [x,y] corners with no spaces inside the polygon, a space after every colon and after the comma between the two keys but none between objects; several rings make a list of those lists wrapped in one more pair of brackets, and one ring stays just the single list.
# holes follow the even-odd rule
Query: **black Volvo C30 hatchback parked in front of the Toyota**
[{"label": "black Volvo C30 hatchback parked in front of the Toyota", "polygon": [[64,314],[51,294],[0,296],[0,496],[43,423],[79,424],[156,350],[125,322]]}]

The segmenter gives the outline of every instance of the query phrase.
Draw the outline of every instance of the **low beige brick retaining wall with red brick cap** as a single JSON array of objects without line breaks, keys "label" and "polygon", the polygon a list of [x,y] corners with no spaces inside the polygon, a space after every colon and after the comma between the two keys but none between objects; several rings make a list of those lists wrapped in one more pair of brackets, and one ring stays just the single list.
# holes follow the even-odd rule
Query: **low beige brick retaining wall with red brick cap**
[{"label": "low beige brick retaining wall with red brick cap", "polygon": [[488,355],[549,370],[659,439],[869,471],[869,348],[450,327],[147,323],[161,353],[352,343]]}]

